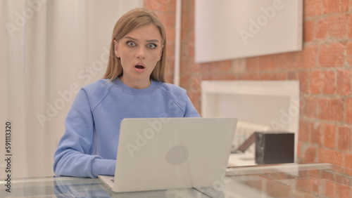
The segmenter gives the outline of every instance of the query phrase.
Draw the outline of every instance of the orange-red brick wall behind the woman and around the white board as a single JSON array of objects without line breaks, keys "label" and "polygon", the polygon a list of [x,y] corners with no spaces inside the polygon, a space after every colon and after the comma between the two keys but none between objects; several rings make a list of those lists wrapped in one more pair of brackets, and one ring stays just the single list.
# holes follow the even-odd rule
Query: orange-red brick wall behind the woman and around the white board
[{"label": "orange-red brick wall behind the woman and around the white board", "polygon": [[[167,26],[172,82],[175,0],[144,1]],[[180,86],[200,113],[201,80],[298,80],[298,161],[352,168],[352,0],[304,0],[303,51],[197,64],[194,0],[182,1],[181,40]]]}]

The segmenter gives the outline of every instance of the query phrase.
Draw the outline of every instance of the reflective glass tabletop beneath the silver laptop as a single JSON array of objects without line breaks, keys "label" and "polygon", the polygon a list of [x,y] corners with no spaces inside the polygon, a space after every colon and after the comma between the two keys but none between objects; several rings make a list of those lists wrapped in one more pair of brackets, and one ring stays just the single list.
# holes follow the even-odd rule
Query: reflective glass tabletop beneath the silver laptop
[{"label": "reflective glass tabletop beneath the silver laptop", "polygon": [[352,197],[352,169],[332,164],[229,167],[210,187],[114,193],[98,178],[0,180],[0,197]]}]

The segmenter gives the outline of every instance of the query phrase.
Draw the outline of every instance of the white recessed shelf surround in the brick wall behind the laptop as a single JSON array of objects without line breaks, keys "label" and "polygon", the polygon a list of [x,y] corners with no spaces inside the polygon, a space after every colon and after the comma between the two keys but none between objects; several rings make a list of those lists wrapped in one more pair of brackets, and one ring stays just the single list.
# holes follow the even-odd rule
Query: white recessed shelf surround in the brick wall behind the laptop
[{"label": "white recessed shelf surround in the brick wall behind the laptop", "polygon": [[[298,143],[299,81],[202,81],[202,117],[237,117],[239,121],[270,126],[270,131],[295,133]],[[253,161],[239,156],[239,166]]]}]

